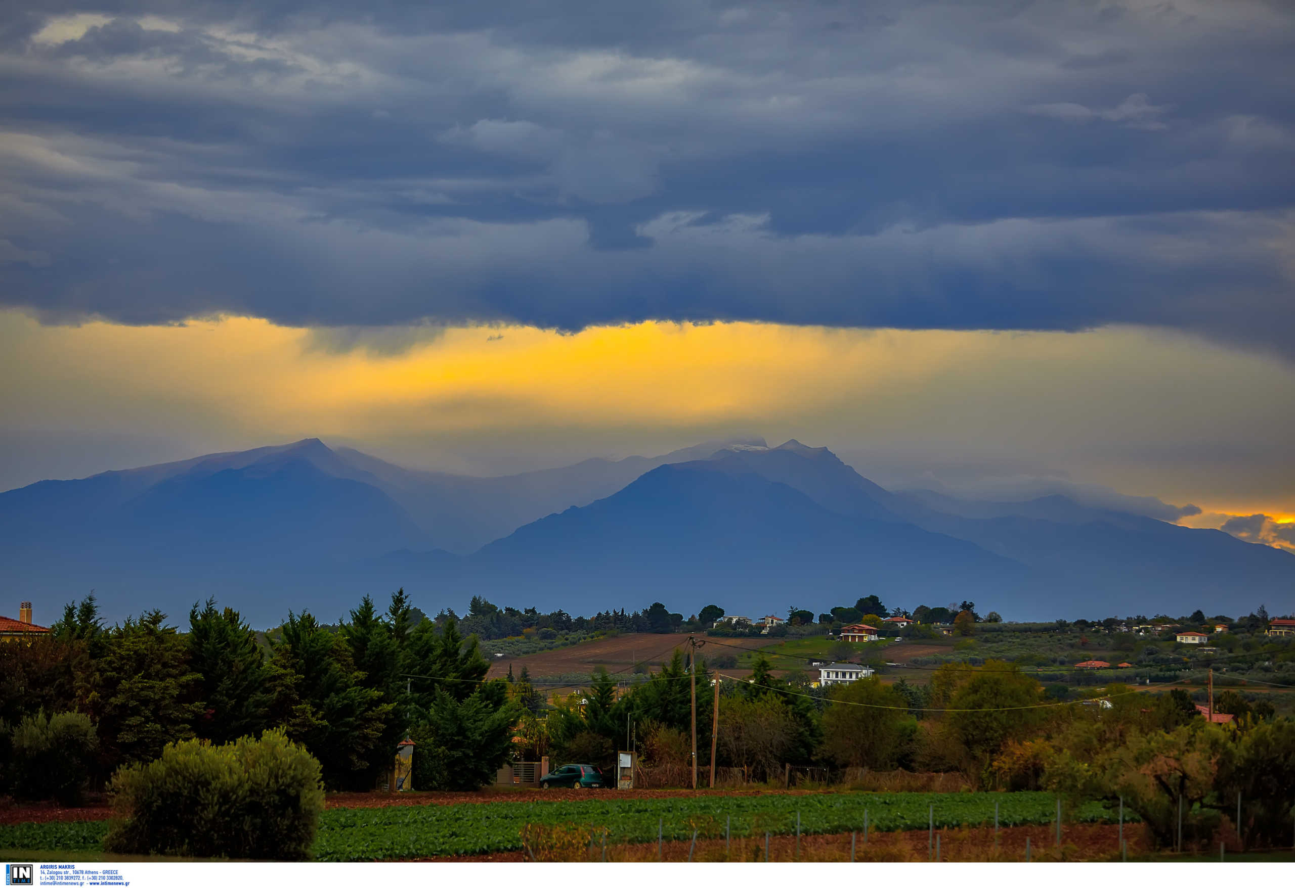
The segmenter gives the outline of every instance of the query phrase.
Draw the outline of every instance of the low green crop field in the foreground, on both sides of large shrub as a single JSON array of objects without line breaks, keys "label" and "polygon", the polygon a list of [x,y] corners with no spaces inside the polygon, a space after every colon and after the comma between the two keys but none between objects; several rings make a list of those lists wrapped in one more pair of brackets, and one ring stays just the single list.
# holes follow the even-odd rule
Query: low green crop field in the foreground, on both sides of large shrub
[{"label": "low green crop field in the foreground, on both sides of large shrub", "polygon": [[[1046,792],[822,792],[330,808],[320,817],[315,856],[321,861],[372,861],[515,850],[527,823],[571,822],[598,834],[606,828],[609,844],[655,841],[658,823],[667,840],[688,839],[693,830],[720,836],[725,822],[732,823],[734,836],[790,834],[796,814],[804,834],[850,832],[864,828],[865,810],[869,828],[875,831],[925,830],[932,805],[935,826],[941,828],[992,823],[996,801],[1002,826],[1050,823],[1057,814],[1055,796]],[[1114,822],[1115,816],[1099,804],[1088,804],[1068,812],[1066,819]],[[93,850],[106,831],[104,821],[0,826],[0,848]]]}]

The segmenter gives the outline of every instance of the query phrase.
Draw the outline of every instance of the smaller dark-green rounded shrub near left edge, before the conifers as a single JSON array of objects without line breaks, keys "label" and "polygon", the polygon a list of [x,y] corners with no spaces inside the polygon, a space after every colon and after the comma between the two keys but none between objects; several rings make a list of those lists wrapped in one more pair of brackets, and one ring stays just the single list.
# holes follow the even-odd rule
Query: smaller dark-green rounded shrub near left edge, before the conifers
[{"label": "smaller dark-green rounded shrub near left edge, before the conifers", "polygon": [[18,799],[80,803],[98,749],[95,722],[79,712],[27,716],[9,734],[13,794]]}]

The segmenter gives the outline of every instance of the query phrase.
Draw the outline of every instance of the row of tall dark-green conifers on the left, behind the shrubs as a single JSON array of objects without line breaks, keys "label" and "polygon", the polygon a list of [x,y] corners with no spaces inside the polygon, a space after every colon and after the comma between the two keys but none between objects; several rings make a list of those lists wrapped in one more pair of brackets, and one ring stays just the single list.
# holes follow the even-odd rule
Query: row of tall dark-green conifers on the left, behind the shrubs
[{"label": "row of tall dark-green conifers on the left, behind the shrubs", "polygon": [[89,727],[78,748],[92,783],[177,740],[220,744],[278,727],[332,788],[379,783],[404,737],[418,744],[423,788],[479,787],[508,759],[521,707],[508,682],[486,680],[475,637],[453,619],[414,623],[413,610],[403,590],[385,612],[365,595],[335,629],[290,614],[263,645],[211,599],[180,633],[157,610],[105,627],[89,595],[48,638],[0,645],[6,770],[26,749],[13,738],[43,730],[53,743],[51,724],[73,718],[83,735]]}]

